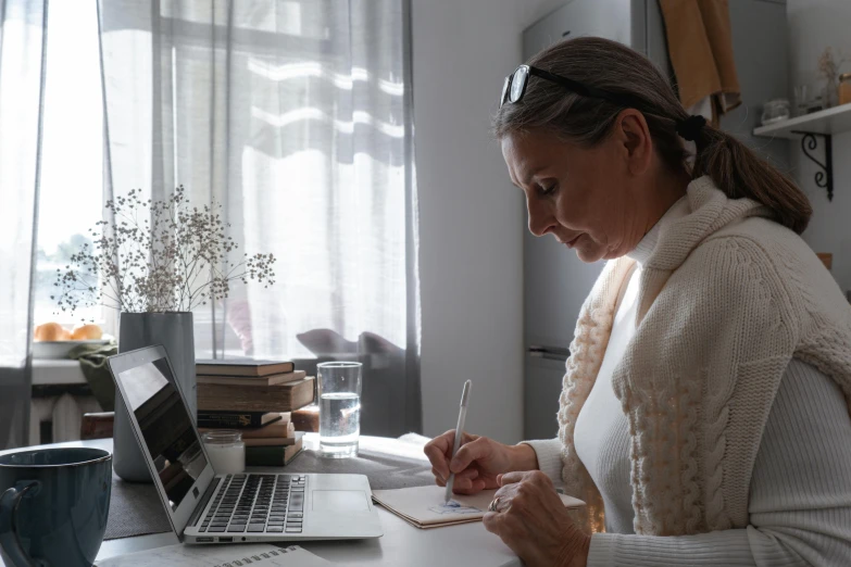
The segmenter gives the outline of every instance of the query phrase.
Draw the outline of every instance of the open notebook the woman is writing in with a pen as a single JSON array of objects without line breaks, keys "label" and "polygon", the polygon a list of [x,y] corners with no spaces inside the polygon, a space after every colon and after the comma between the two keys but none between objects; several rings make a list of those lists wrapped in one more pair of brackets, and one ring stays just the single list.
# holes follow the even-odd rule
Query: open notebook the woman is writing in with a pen
[{"label": "open notebook the woman is writing in with a pen", "polygon": [[[483,490],[472,496],[453,494],[449,505],[443,504],[446,489],[431,484],[398,490],[373,490],[373,500],[417,528],[441,528],[480,521],[496,490]],[[585,506],[585,502],[559,494],[567,508]]]}]

